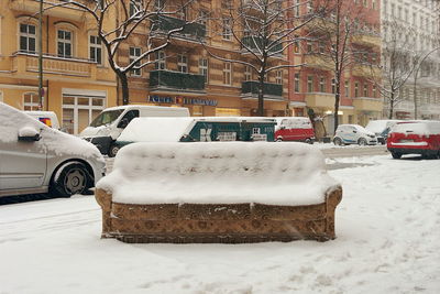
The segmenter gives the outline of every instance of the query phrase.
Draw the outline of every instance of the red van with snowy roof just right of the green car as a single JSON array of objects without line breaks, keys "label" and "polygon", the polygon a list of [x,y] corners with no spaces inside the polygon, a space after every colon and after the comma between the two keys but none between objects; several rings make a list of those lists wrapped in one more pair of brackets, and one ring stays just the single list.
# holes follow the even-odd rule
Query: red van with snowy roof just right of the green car
[{"label": "red van with snowy roof just right of the green car", "polygon": [[312,144],[315,141],[314,126],[309,118],[304,117],[278,117],[276,119],[275,140],[299,141]]}]

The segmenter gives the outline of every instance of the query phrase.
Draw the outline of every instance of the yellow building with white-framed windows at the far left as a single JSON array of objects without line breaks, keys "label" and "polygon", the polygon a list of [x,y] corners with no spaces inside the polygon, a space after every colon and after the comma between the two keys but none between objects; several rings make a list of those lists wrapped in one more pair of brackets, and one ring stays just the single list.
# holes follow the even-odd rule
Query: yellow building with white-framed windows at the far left
[{"label": "yellow building with white-framed windows at the far left", "polygon": [[[42,34],[44,100],[40,107],[37,12],[38,1],[34,0],[3,0],[0,6],[0,101],[22,110],[55,111],[63,128],[77,134],[102,109],[117,104],[116,75],[94,22],[84,11],[47,9]],[[113,21],[109,18],[106,25],[114,28]]]}]

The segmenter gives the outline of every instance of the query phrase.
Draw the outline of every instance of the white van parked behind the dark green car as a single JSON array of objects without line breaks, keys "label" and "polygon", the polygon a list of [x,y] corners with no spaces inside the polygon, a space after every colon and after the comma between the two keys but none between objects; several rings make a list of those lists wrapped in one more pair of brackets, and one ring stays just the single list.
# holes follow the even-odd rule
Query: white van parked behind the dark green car
[{"label": "white van parked behind the dark green car", "polygon": [[80,132],[79,137],[94,143],[102,154],[112,157],[118,152],[113,143],[122,130],[132,119],[144,117],[189,117],[189,110],[183,107],[143,105],[107,108]]}]

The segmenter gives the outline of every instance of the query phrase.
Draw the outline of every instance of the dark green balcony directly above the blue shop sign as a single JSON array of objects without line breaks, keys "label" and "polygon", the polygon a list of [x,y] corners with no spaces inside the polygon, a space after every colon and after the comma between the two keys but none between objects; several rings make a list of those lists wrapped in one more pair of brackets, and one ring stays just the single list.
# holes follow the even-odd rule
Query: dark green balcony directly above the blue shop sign
[{"label": "dark green balcony directly above the blue shop sign", "polygon": [[150,88],[202,91],[205,89],[205,76],[170,70],[151,70]]}]

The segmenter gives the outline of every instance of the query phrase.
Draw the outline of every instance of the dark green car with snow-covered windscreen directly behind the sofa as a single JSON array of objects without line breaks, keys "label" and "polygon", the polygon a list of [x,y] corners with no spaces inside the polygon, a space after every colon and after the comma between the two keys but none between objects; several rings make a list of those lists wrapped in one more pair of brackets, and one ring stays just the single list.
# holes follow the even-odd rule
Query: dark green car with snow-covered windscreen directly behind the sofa
[{"label": "dark green car with snow-covered windscreen directly behind the sofa", "polygon": [[135,118],[114,143],[274,141],[275,120],[242,117]]}]

